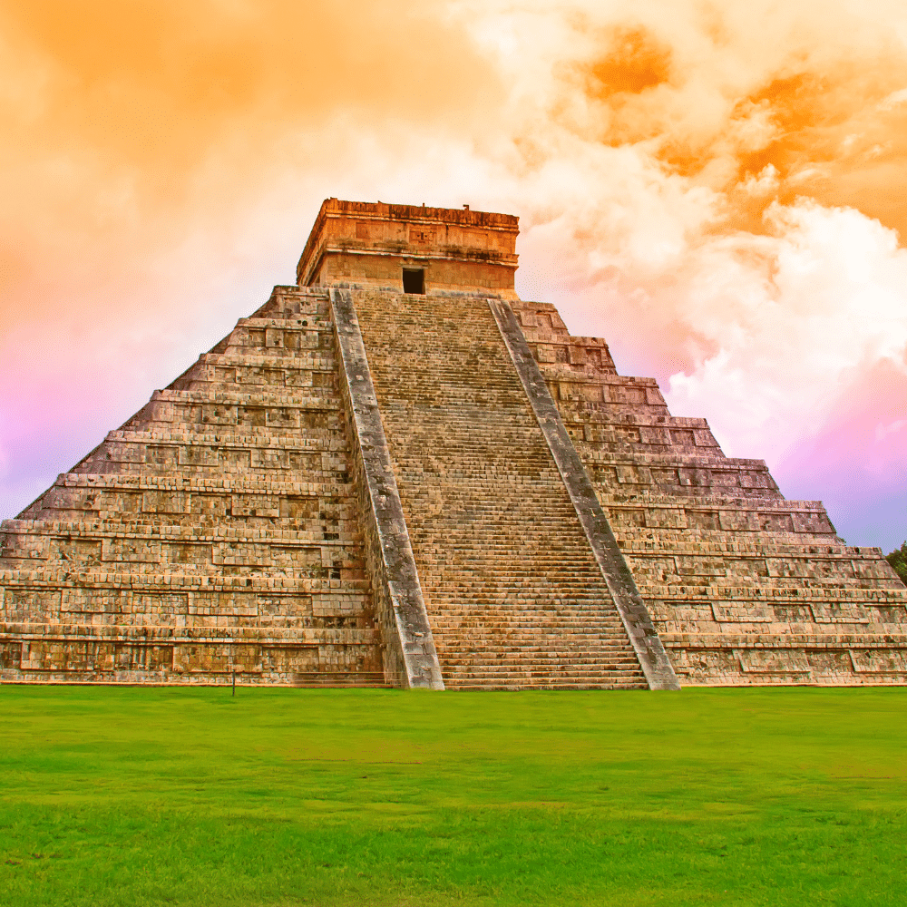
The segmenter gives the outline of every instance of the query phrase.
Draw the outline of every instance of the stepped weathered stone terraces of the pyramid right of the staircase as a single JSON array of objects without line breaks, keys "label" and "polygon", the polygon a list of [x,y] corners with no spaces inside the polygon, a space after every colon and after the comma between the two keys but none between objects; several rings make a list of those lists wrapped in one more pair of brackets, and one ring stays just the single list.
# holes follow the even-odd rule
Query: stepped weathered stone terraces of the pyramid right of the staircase
[{"label": "stepped weathered stone terraces of the pyramid right of the staircase", "polygon": [[553,306],[512,306],[682,684],[907,680],[907,589],[879,549],[726,457]]}]

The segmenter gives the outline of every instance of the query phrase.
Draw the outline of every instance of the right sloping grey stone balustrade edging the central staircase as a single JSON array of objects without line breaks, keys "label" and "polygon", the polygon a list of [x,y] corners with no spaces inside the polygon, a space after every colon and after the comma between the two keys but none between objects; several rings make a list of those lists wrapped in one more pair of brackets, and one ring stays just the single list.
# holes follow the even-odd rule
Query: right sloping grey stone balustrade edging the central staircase
[{"label": "right sloping grey stone balustrade edging the central staircase", "polygon": [[561,414],[526,343],[522,328],[506,302],[489,299],[488,306],[501,331],[513,366],[520,375],[523,389],[532,405],[532,412],[551,449],[554,462],[557,463],[558,471],[570,494],[573,507],[580,518],[583,531],[608,585],[620,619],[627,629],[630,642],[639,658],[639,665],[649,681],[649,688],[679,689],[680,684],[668,660],[668,653],[652,624],[649,610],[639,595],[627,561],[624,560],[614,533],[611,532],[608,517],[601,509],[580,455],[576,452],[567,429],[564,428]]}]

